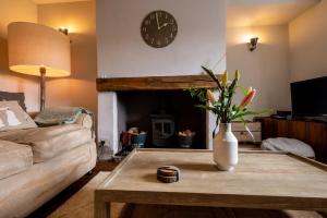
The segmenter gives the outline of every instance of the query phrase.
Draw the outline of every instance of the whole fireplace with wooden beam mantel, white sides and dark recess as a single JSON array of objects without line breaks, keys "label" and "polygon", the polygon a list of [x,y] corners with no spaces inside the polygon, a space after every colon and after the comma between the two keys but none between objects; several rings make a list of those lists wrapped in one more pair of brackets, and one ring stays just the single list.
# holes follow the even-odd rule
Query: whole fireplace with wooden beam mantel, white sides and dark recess
[{"label": "whole fireplace with wooden beam mantel, white sides and dark recess", "polygon": [[184,89],[215,87],[206,75],[98,78],[98,140],[113,154],[120,133],[129,128],[147,132],[145,147],[178,148],[177,134],[195,132],[191,148],[211,148],[215,117],[195,108]]}]

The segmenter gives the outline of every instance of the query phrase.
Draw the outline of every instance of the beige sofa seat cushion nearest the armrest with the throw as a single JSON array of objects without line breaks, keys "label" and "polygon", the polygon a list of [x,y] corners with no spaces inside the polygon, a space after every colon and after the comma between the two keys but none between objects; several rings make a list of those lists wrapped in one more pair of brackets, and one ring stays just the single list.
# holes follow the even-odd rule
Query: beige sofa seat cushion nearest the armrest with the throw
[{"label": "beige sofa seat cushion nearest the armrest with the throw", "polygon": [[78,124],[10,131],[0,140],[31,145],[34,162],[43,162],[92,142],[92,131]]}]

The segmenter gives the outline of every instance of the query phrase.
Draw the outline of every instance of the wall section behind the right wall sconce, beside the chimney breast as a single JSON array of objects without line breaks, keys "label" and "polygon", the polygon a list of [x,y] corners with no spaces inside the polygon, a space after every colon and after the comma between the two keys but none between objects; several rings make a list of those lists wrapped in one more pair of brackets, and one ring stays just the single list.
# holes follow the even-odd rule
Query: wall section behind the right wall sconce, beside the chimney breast
[{"label": "wall section behind the right wall sconce, beside the chimney breast", "polygon": [[[247,41],[258,36],[251,52]],[[289,34],[287,25],[227,28],[227,69],[242,72],[240,85],[258,90],[252,109],[290,110]],[[238,95],[235,101],[240,101]]]}]

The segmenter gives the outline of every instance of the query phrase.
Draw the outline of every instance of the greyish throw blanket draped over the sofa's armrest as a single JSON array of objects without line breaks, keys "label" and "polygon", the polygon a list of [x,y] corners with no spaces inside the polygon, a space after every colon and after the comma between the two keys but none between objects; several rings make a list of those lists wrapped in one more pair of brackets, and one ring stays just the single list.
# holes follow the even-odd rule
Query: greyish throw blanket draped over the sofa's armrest
[{"label": "greyish throw blanket draped over the sofa's armrest", "polygon": [[90,111],[78,107],[46,108],[34,119],[34,121],[39,126],[71,124],[71,123],[75,123],[78,116],[81,116],[82,113],[89,114],[94,121],[94,116]]}]

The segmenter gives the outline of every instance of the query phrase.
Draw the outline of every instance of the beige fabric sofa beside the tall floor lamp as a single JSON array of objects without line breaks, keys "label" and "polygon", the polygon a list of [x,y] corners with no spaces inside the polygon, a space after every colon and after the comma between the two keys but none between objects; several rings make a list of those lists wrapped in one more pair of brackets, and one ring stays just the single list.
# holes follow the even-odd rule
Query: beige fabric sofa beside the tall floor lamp
[{"label": "beige fabric sofa beside the tall floor lamp", "polygon": [[96,165],[89,117],[0,132],[0,218],[26,217]]}]

